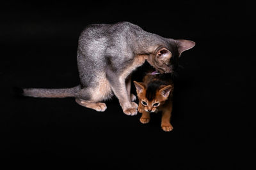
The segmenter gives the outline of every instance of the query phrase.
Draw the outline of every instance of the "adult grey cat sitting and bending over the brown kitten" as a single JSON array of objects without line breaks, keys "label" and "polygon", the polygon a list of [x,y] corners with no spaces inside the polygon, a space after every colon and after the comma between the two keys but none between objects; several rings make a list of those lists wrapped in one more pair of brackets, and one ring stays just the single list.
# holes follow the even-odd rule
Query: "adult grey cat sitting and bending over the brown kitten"
[{"label": "adult grey cat sitting and bending over the brown kitten", "polygon": [[70,89],[23,89],[24,96],[76,97],[86,108],[105,111],[100,103],[118,98],[126,115],[136,115],[131,73],[145,60],[160,73],[172,73],[180,54],[195,45],[184,39],[163,38],[129,22],[88,25],[79,37],[77,65],[81,84]]}]

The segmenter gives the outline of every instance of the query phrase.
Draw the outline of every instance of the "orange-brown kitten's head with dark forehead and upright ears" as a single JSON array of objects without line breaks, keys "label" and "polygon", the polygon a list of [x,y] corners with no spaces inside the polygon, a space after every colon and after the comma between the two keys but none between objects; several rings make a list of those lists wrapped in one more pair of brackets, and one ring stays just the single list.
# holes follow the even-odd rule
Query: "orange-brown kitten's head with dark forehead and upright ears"
[{"label": "orange-brown kitten's head with dark forehead and upright ears", "polygon": [[172,85],[156,85],[150,83],[148,87],[144,83],[134,81],[137,96],[140,99],[145,111],[157,112],[157,108],[165,103],[169,95],[172,94]]}]

